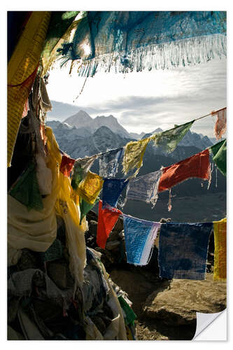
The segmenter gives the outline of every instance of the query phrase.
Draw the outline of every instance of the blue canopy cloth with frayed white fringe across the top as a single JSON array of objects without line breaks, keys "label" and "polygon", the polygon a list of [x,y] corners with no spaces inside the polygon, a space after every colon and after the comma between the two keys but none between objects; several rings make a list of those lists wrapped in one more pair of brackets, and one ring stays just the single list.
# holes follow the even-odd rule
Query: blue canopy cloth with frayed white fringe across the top
[{"label": "blue canopy cloth with frayed white fringe across the top", "polygon": [[[80,76],[169,69],[226,56],[225,11],[87,11],[57,49]],[[73,65],[73,63],[72,63]]]}]

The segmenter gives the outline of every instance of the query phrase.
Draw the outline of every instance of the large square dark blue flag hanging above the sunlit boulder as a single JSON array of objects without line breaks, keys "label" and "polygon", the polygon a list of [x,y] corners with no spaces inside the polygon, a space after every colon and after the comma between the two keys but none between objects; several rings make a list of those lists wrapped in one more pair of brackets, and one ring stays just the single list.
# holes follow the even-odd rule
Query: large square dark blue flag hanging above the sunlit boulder
[{"label": "large square dark blue flag hanging above the sunlit boulder", "polygon": [[213,223],[164,223],[160,228],[160,277],[205,279]]}]

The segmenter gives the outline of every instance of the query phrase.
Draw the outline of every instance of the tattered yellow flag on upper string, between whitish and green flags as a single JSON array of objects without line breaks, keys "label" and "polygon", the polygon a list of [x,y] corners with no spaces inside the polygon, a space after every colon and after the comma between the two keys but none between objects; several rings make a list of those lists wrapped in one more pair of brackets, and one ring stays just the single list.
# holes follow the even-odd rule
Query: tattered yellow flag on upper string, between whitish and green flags
[{"label": "tattered yellow flag on upper string, between whitish and green flags", "polygon": [[130,141],[125,146],[125,154],[122,161],[123,172],[125,174],[134,168],[137,168],[134,176],[138,174],[139,169],[143,165],[143,155],[146,151],[146,146],[148,145],[149,141],[150,137],[139,141]]}]

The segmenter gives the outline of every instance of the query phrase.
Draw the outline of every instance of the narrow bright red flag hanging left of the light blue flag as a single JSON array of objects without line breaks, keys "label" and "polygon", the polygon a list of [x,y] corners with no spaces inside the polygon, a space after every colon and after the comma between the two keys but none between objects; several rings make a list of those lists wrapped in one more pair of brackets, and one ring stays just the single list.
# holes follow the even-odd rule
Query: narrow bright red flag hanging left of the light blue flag
[{"label": "narrow bright red flag hanging left of the light blue flag", "polygon": [[[108,209],[109,208],[109,209]],[[118,217],[122,212],[113,207],[102,209],[102,201],[99,201],[98,228],[97,228],[97,244],[101,248],[105,248],[108,236],[113,230]]]}]

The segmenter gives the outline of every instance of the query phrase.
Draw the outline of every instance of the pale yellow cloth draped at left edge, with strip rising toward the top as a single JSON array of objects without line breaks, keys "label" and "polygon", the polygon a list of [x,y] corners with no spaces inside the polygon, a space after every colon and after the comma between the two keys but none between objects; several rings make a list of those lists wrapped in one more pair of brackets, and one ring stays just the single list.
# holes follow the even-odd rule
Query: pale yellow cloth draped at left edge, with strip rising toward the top
[{"label": "pale yellow cloth draped at left edge, with strip rising toward the top", "polygon": [[41,211],[34,209],[28,211],[24,204],[8,195],[8,265],[17,264],[22,248],[46,251],[57,236],[55,202],[60,188],[59,177],[63,176],[59,172],[62,155],[52,129],[46,127],[45,132],[48,137],[47,166],[52,172],[51,193],[42,199],[43,210]]}]

